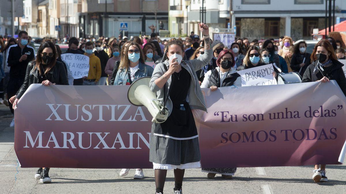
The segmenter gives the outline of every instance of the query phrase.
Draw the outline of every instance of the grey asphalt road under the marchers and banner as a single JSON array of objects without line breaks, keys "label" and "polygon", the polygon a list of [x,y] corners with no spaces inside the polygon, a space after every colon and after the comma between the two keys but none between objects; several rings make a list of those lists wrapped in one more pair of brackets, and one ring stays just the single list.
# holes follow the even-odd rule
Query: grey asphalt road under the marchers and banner
[{"label": "grey asphalt road under the marchers and banner", "polygon": [[[155,193],[153,169],[144,169],[143,180],[132,178],[134,170],[127,177],[120,178],[120,169],[52,168],[49,173],[51,184],[42,184],[34,179],[36,168],[18,168],[16,175],[14,128],[8,127],[12,117],[7,114],[6,107],[0,106],[0,193]],[[183,192],[346,193],[346,165],[327,166],[328,183],[313,183],[312,169],[312,166],[238,168],[232,180],[221,177],[208,179],[200,169],[190,169],[185,172]],[[169,171],[165,193],[173,193],[173,187],[174,175]]]}]

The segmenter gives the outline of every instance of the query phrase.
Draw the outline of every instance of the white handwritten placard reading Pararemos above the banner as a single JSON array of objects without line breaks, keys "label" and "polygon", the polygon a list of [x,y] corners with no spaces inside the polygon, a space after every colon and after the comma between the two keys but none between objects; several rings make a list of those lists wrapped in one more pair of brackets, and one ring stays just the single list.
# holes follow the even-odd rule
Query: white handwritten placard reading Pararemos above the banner
[{"label": "white handwritten placard reading Pararemos above the banner", "polygon": [[276,79],[273,77],[274,67],[272,64],[253,67],[238,71],[242,79],[242,86],[265,86],[277,85]]}]

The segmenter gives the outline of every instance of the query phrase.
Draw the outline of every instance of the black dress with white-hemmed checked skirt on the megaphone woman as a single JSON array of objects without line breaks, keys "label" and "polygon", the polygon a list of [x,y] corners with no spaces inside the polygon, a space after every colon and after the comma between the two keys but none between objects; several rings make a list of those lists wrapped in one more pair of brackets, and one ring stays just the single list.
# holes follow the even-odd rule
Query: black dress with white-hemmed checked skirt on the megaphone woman
[{"label": "black dress with white-hemmed checked skirt on the megaphone woman", "polygon": [[171,79],[172,112],[165,122],[152,125],[149,161],[153,162],[154,169],[199,168],[197,128],[186,102],[191,75],[182,68],[179,73],[173,73]]}]

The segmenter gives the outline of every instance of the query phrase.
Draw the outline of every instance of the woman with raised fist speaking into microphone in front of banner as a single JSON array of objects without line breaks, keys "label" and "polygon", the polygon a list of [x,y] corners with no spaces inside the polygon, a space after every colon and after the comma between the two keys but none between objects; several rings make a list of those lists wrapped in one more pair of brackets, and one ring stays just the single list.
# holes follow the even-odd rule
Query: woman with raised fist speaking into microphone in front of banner
[{"label": "woman with raised fist speaking into microphone in front of banner", "polygon": [[[150,89],[169,111],[163,123],[153,123],[149,161],[155,169],[156,193],[162,194],[167,170],[174,169],[175,193],[182,193],[185,169],[199,168],[198,134],[191,109],[206,111],[205,100],[195,71],[206,66],[213,57],[209,27],[199,24],[204,36],[204,54],[186,60],[184,45],[171,39],[162,63],[158,64],[150,81]],[[184,60],[183,60],[184,59]]]}]

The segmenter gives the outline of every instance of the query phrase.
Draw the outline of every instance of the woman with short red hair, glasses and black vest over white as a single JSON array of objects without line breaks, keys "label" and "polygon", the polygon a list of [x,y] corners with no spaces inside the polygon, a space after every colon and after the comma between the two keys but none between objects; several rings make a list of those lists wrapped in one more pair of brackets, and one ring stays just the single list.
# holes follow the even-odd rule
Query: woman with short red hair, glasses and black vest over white
[{"label": "woman with short red hair, glasses and black vest over white", "polygon": [[222,50],[216,59],[216,65],[217,68],[206,73],[201,88],[210,88],[211,91],[215,91],[219,87],[242,86],[240,75],[234,68],[235,60],[232,50]]}]

